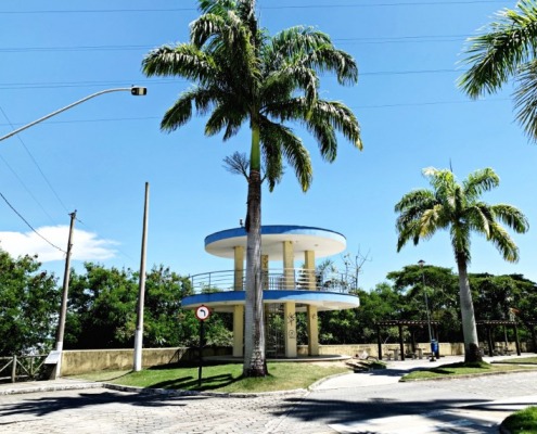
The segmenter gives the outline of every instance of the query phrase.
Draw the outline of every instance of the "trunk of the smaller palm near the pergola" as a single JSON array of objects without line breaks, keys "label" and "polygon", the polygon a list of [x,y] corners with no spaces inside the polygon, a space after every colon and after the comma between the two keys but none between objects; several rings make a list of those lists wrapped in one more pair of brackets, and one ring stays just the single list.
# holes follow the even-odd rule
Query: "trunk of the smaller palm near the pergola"
[{"label": "trunk of the smaller palm near the pergola", "polygon": [[464,337],[464,362],[483,361],[480,353],[472,292],[470,291],[470,282],[468,280],[466,260],[458,257],[457,267],[459,269],[459,297],[461,303],[462,334]]}]

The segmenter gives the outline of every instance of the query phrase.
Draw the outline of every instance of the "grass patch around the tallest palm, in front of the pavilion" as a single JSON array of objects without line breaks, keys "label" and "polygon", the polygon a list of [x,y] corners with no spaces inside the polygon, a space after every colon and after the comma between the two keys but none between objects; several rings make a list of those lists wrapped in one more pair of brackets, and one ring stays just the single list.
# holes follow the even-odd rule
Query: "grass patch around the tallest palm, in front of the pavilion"
[{"label": "grass patch around the tallest palm, in front of the pavilion", "polygon": [[242,378],[242,363],[204,366],[201,387],[197,382],[197,367],[194,366],[165,366],[139,372],[93,372],[76,375],[76,378],[137,387],[258,393],[307,388],[320,379],[350,371],[342,362],[277,362],[268,363],[268,370],[269,375],[266,378],[245,379]]}]

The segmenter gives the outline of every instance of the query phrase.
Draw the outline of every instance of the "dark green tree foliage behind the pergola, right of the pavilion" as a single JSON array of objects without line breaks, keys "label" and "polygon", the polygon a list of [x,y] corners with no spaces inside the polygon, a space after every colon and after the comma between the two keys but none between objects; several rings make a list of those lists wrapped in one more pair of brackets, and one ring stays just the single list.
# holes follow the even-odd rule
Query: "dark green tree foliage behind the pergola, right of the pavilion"
[{"label": "dark green tree foliage behind the pergola, right of the pavilion", "polygon": [[[426,320],[424,291],[427,293],[431,319],[438,321],[440,342],[460,342],[462,321],[459,307],[459,277],[450,268],[409,265],[387,273],[388,282],[371,291],[358,290],[360,307],[351,310],[319,314],[319,339],[322,344],[371,344],[376,342],[379,321]],[[423,286],[423,280],[425,286]],[[537,284],[520,275],[494,276],[470,273],[475,318],[480,320],[512,320],[519,324],[521,340],[532,339],[529,322],[537,320]],[[425,326],[404,329],[418,342],[427,342]],[[504,339],[503,329],[495,330],[496,340]],[[478,330],[485,341],[485,330]],[[382,342],[397,342],[397,328],[382,328]],[[511,341],[514,336],[511,336]]]}]

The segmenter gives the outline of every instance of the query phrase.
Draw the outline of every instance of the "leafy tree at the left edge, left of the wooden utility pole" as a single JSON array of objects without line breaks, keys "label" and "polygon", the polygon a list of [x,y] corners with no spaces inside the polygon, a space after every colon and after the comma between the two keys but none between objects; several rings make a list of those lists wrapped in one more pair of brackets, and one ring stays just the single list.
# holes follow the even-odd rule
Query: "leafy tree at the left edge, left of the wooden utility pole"
[{"label": "leafy tree at the left edge, left of the wooden utility pole", "polygon": [[0,356],[51,348],[60,292],[54,275],[39,271],[36,257],[12,258],[0,250]]}]

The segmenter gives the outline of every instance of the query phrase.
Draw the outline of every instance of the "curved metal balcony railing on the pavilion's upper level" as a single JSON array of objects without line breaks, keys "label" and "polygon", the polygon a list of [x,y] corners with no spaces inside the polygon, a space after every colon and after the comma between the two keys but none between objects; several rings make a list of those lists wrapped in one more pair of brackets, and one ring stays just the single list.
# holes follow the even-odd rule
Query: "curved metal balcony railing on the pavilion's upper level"
[{"label": "curved metal balcony railing on the pavilion's upper level", "polygon": [[[212,271],[190,276],[196,294],[226,291],[244,291],[245,271]],[[265,291],[303,290],[348,293],[356,288],[355,279],[344,273],[319,273],[303,268],[269,269],[263,271]]]}]

